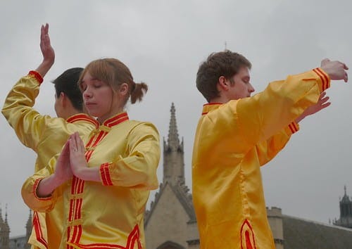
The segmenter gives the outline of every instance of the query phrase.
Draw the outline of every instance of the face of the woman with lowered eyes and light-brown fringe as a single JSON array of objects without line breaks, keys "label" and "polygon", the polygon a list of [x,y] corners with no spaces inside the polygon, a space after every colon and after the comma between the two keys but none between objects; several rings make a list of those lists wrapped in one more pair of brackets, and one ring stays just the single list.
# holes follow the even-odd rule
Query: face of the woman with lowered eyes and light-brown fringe
[{"label": "face of the woman with lowered eyes and light-brown fringe", "polygon": [[92,77],[89,72],[84,75],[81,87],[84,105],[89,115],[97,117],[99,122],[102,123],[122,111],[118,105],[118,96],[113,89],[106,82]]}]

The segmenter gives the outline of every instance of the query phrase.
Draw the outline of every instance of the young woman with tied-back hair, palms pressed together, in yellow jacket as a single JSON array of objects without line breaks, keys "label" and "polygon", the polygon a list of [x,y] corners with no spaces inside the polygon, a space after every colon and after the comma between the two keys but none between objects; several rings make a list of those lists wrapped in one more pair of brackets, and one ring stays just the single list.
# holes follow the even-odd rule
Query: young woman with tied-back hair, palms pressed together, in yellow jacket
[{"label": "young woman with tied-back hair, palms pressed together, in yellow jacket", "polygon": [[144,248],[144,208],[149,190],[158,188],[159,136],[151,123],[129,120],[124,107],[129,99],[141,101],[147,86],[134,83],[113,58],[89,63],[79,84],[100,126],[83,140],[72,134],[58,160],[25,181],[23,200],[33,210],[62,210],[61,241],[49,241],[52,248]]}]

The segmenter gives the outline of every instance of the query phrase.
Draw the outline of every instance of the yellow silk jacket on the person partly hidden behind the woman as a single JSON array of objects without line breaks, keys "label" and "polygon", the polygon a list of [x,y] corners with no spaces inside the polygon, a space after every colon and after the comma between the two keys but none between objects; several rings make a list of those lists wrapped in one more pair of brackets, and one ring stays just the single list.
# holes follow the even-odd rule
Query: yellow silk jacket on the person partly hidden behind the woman
[{"label": "yellow silk jacket on the person partly hidden behind the woman", "polygon": [[[40,115],[33,106],[42,82],[39,73],[30,71],[11,89],[2,108],[2,113],[18,139],[37,153],[34,172],[42,170],[54,155],[61,152],[70,134],[89,134],[99,125],[92,117],[82,113],[73,115],[68,120]],[[56,211],[49,215],[34,212],[30,243],[37,248],[47,248],[48,240],[57,239],[57,230],[61,230],[57,227],[57,219],[60,219],[60,214]],[[50,231],[49,238],[47,230]]]}]

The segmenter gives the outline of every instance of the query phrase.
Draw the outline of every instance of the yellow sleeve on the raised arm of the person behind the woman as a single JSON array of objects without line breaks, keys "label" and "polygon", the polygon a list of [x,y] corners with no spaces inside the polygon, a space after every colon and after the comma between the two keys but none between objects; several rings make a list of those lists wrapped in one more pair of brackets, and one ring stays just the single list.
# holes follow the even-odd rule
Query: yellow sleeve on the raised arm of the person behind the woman
[{"label": "yellow sleeve on the raised arm of the person behind the woman", "polygon": [[34,71],[22,77],[8,93],[2,114],[13,127],[18,139],[27,147],[37,151],[37,145],[44,131],[48,115],[40,115],[32,107],[39,94],[41,76]]}]

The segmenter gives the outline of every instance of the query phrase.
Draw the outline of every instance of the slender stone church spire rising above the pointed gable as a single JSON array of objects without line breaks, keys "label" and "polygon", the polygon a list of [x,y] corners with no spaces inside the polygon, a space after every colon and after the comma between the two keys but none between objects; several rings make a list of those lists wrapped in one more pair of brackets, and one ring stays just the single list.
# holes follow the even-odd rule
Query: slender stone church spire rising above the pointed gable
[{"label": "slender stone church spire rising above the pointed gable", "polygon": [[171,104],[170,109],[170,125],[168,142],[164,138],[164,165],[163,165],[163,183],[183,185],[184,184],[184,148],[183,139],[180,142],[177,124],[176,124],[176,110],[174,103]]}]

